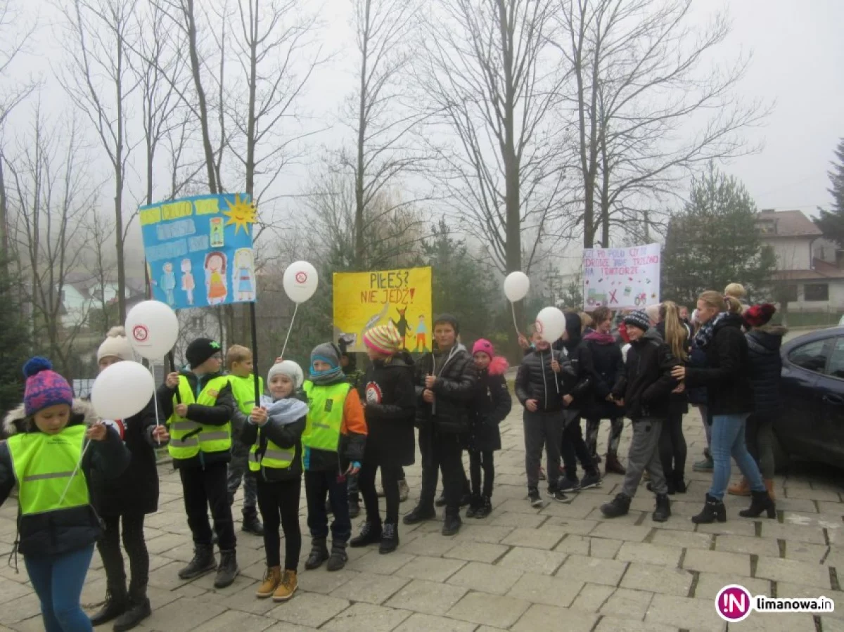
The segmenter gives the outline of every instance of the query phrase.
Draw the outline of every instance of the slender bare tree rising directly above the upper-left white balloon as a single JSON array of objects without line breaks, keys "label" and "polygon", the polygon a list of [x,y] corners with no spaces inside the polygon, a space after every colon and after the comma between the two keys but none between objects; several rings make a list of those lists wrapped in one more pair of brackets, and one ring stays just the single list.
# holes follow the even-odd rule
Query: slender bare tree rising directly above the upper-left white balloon
[{"label": "slender bare tree rising directly above the upper-left white balloon", "polygon": [[61,5],[67,30],[66,66],[57,78],[94,126],[114,172],[117,311],[126,319],[126,229],[123,195],[133,144],[127,139],[128,100],[138,87],[128,62],[137,36],[138,0],[73,0]]}]

